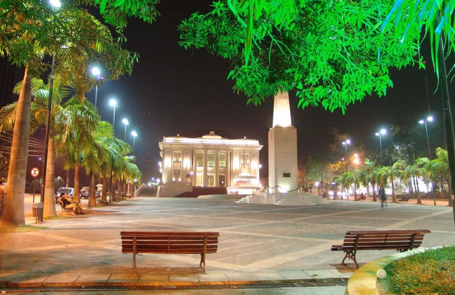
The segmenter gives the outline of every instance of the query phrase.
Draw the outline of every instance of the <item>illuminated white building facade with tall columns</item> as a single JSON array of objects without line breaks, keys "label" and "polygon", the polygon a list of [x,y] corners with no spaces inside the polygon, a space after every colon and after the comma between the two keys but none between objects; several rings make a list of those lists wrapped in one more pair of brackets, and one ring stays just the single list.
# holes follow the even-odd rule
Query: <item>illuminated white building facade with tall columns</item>
[{"label": "illuminated white building facade with tall columns", "polygon": [[259,179],[259,151],[252,139],[226,139],[210,134],[198,138],[164,137],[159,143],[163,183],[229,187],[240,175]]}]

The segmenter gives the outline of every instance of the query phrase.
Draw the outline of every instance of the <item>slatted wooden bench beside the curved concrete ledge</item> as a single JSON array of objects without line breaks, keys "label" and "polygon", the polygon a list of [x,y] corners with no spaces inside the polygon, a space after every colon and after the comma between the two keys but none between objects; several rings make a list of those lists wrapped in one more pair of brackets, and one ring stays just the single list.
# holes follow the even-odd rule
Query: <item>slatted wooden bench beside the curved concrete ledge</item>
[{"label": "slatted wooden bench beside the curved concrete ledge", "polygon": [[400,252],[418,248],[425,234],[431,233],[428,229],[416,230],[378,230],[378,231],[348,231],[344,237],[343,245],[333,245],[332,251],[344,251],[341,264],[346,258],[354,261],[358,269],[355,253],[358,250],[385,250],[396,249]]}]

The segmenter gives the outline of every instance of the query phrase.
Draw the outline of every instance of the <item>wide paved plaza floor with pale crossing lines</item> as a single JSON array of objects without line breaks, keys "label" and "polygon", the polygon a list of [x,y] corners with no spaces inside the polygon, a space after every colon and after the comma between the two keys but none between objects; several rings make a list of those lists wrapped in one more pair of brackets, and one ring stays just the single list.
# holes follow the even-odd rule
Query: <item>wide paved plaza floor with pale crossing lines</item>
[{"label": "wide paved plaza floor with pale crossing lines", "polygon": [[[330,250],[349,230],[430,229],[423,247],[455,244],[451,207],[387,205],[334,200],[329,205],[277,206],[223,198],[140,196],[42,224],[27,214],[28,224],[45,229],[1,234],[0,284],[12,288],[336,281],[348,279],[354,271],[351,261],[348,266],[340,264],[343,252]],[[206,273],[199,268],[200,255],[145,254],[137,256],[134,274],[132,255],[122,254],[123,230],[218,231],[218,252],[207,255]],[[395,253],[359,251],[357,261],[363,265]],[[330,288],[244,294],[342,294],[345,287]]]}]

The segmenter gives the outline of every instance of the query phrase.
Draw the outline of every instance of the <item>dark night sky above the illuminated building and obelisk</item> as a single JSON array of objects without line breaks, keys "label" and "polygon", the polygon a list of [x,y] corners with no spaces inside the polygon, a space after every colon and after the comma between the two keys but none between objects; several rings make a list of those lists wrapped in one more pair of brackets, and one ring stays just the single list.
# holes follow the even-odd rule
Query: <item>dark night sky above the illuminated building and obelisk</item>
[{"label": "dark night sky above the illuminated building and obelisk", "polygon": [[[135,155],[143,173],[157,173],[160,161],[158,142],[163,136],[185,134],[194,129],[224,130],[237,138],[246,136],[264,145],[261,163],[267,167],[267,132],[272,127],[273,98],[260,106],[247,105],[247,97],[234,94],[233,81],[227,80],[228,61],[208,54],[204,49],[184,50],[177,45],[177,25],[196,11],[207,12],[210,0],[162,1],[161,16],[152,25],[130,20],[126,28],[126,49],[140,54],[133,74],[118,81],[108,81],[98,91],[98,108],[103,120],[112,122],[113,110],[108,100],[117,98],[116,135],[123,139],[127,118],[126,141],[132,145],[131,130],[139,134]],[[428,58],[430,59],[430,58]],[[440,113],[442,100],[435,89],[435,74],[427,69],[430,105]],[[428,113],[425,71],[417,67],[392,72],[394,87],[386,97],[367,97],[348,106],[346,115],[323,108],[297,108],[298,100],[290,94],[292,123],[298,132],[299,161],[314,151],[326,149],[333,137],[332,126],[352,134],[355,142],[376,137],[382,127],[400,125],[409,117]],[[451,85],[451,93],[455,93]],[[87,94],[94,101],[95,91]],[[436,114],[438,116],[438,114]],[[419,118],[420,119],[420,118]],[[418,121],[418,120],[417,120]],[[417,122],[416,122],[417,123]],[[442,128],[442,117],[435,124]],[[200,134],[199,136],[202,136]],[[424,139],[425,140],[425,139]],[[149,159],[149,163],[145,160]],[[267,172],[263,170],[262,174]]]}]

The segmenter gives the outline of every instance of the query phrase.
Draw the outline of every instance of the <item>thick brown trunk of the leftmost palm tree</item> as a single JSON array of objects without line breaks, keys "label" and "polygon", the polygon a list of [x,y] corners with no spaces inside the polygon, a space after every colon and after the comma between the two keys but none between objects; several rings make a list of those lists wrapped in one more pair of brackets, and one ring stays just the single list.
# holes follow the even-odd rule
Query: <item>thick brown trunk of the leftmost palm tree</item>
[{"label": "thick brown trunk of the leftmost palm tree", "polygon": [[25,67],[24,80],[16,110],[13,129],[13,142],[8,167],[8,185],[6,187],[5,208],[2,227],[25,225],[24,193],[27,173],[27,153],[30,132],[31,77],[28,65]]}]

